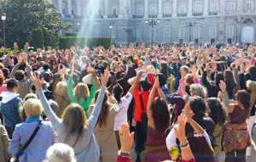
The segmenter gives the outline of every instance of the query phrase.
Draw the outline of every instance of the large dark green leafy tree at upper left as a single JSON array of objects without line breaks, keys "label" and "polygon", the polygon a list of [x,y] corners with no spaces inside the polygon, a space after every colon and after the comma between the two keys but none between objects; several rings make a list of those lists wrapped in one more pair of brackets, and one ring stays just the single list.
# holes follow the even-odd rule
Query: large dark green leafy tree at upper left
[{"label": "large dark green leafy tree at upper left", "polygon": [[42,29],[44,47],[55,47],[59,31],[72,26],[61,20],[55,5],[47,0],[0,0],[0,11],[7,16],[5,29],[8,47],[12,47],[13,42],[20,45],[32,42],[33,29]]}]

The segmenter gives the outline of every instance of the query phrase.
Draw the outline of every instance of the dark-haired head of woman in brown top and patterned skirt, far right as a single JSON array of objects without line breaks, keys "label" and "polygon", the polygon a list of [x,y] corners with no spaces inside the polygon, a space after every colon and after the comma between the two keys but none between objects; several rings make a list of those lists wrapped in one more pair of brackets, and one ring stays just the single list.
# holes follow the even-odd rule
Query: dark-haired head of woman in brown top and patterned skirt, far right
[{"label": "dark-haired head of woman in brown top and patterned skirt, far right", "polygon": [[236,103],[242,105],[245,109],[251,107],[251,97],[246,90],[239,90],[236,92]]}]

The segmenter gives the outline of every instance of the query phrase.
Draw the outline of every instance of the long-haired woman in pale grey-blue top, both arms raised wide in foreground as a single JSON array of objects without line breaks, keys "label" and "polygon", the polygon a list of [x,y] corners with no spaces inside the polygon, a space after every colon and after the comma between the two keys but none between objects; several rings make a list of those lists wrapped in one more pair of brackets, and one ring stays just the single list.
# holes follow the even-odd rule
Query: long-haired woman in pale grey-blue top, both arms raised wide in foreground
[{"label": "long-haired woman in pale grey-blue top, both arms raised wide in foreground", "polygon": [[85,159],[86,161],[99,161],[100,159],[100,149],[93,130],[102,109],[102,101],[108,77],[109,72],[105,70],[95,109],[88,120],[85,117],[84,109],[78,103],[71,103],[64,110],[61,119],[58,118],[53,110],[50,109],[49,103],[44,96],[42,90],[43,81],[39,80],[36,75],[32,77],[32,81],[38,90],[39,98],[44,107],[44,114],[49,118],[58,134],[57,141],[66,143],[72,147],[78,161],[84,161]]}]

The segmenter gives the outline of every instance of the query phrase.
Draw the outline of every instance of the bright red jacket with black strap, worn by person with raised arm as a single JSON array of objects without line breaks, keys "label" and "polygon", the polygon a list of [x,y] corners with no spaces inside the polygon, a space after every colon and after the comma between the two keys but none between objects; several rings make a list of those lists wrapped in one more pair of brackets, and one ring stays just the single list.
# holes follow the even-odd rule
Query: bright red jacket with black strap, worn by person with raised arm
[{"label": "bright red jacket with black strap, worn by person with raised arm", "polygon": [[[148,81],[151,82],[152,86],[154,85],[154,76],[152,74],[148,74],[147,75],[148,77]],[[150,88],[151,90],[151,88]],[[139,122],[142,122],[142,114],[143,112],[144,113],[147,113],[147,103],[148,103],[148,96],[149,96],[149,93],[150,93],[150,90],[149,91],[146,91],[146,92],[140,92],[139,91],[139,87],[136,87],[134,92],[133,92],[133,97],[135,99],[135,109],[134,109],[134,117],[133,119],[136,120],[136,121],[139,121]],[[157,92],[155,93],[155,96],[156,96]],[[143,98],[143,109],[142,109],[142,104],[141,104],[141,101],[140,101],[140,95],[142,95],[142,98]]]}]

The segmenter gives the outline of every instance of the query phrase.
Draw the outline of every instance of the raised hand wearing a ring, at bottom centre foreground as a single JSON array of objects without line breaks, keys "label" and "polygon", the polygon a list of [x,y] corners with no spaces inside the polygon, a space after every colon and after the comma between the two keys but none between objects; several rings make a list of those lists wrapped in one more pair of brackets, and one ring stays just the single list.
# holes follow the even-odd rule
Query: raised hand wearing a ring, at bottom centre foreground
[{"label": "raised hand wearing a ring, at bottom centre foreground", "polygon": [[123,123],[119,127],[119,137],[121,142],[121,153],[128,154],[134,142],[134,132],[129,131],[129,127]]}]

